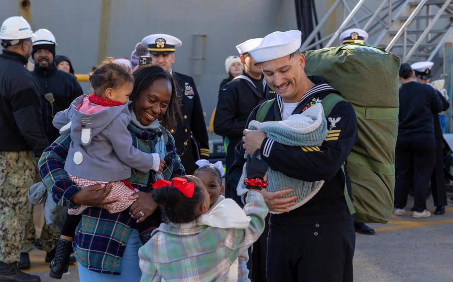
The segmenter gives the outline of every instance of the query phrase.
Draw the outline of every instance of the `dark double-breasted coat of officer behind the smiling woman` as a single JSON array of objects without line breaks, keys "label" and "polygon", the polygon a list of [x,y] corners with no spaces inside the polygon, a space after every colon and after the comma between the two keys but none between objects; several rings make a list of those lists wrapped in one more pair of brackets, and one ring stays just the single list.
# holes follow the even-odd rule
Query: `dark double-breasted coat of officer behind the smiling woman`
[{"label": "dark double-breasted coat of officer behind the smiling woman", "polygon": [[200,158],[209,158],[209,140],[200,96],[194,79],[186,74],[173,72],[181,87],[182,121],[177,119],[176,129],[170,129],[175,138],[176,149],[181,154],[181,163],[187,174],[193,174]]}]

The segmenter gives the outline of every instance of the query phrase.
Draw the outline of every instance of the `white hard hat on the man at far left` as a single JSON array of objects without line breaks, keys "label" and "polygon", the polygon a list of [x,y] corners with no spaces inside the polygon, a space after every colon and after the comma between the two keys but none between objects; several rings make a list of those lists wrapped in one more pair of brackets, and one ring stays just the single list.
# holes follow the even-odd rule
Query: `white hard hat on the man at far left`
[{"label": "white hard hat on the man at far left", "polygon": [[30,24],[21,16],[8,17],[0,27],[0,39],[17,40],[34,36]]}]

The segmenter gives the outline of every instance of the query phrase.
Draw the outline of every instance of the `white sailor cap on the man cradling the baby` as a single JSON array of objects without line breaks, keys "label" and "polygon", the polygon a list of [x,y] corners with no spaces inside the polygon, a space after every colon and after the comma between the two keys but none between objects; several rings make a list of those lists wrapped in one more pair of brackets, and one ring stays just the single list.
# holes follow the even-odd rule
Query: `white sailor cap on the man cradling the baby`
[{"label": "white sailor cap on the man cradling the baby", "polygon": [[288,56],[299,50],[301,43],[300,30],[275,31],[266,35],[259,46],[249,53],[256,63],[261,63]]}]

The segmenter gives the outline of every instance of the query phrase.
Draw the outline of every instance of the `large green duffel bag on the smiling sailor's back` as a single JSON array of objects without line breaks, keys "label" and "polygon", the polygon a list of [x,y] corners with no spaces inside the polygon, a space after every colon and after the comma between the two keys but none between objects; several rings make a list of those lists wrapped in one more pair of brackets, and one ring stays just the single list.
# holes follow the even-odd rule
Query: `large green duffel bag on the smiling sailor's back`
[{"label": "large green duffel bag on the smiling sailor's back", "polygon": [[347,158],[355,220],[386,223],[393,211],[400,59],[355,43],[307,51],[305,58],[307,75],[326,79],[357,116],[358,141]]}]

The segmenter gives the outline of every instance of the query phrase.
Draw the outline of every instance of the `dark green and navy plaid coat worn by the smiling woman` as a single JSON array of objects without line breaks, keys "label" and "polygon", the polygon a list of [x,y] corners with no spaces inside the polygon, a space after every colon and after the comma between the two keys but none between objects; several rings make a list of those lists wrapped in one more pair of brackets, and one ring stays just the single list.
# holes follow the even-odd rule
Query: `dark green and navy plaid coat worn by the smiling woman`
[{"label": "dark green and navy plaid coat worn by the smiling woman", "polygon": [[[134,147],[143,152],[154,153],[157,142],[156,136],[165,130],[140,129],[129,124],[127,129],[132,136]],[[176,153],[174,139],[166,131],[167,154],[165,167],[162,173],[164,179],[184,175],[184,167]],[[53,200],[59,205],[68,208],[77,208],[71,203],[72,197],[79,192],[73,185],[64,170],[64,162],[68,153],[71,137],[69,132],[64,133],[54,141],[42,154],[38,170],[43,183],[52,193]],[[132,186],[142,192],[151,192],[151,183],[155,180],[156,172],[141,172],[132,169],[132,177],[128,181]],[[77,226],[74,237],[74,252],[77,261],[84,267],[100,273],[120,274],[122,255],[126,248],[127,239],[134,220],[129,216],[129,211],[110,213],[100,208],[88,208],[83,212],[82,220]]]}]

